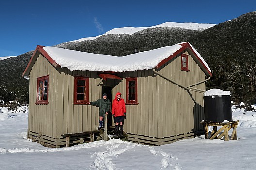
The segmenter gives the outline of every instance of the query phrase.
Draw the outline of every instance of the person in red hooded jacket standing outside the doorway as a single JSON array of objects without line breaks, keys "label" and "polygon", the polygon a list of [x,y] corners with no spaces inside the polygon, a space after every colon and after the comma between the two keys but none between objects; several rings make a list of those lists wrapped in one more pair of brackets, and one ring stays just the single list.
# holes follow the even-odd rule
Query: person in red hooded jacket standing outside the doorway
[{"label": "person in red hooded jacket standing outside the doorway", "polygon": [[121,98],[121,93],[117,92],[112,104],[112,115],[115,122],[115,136],[123,135],[123,124],[126,119],[125,101]]}]

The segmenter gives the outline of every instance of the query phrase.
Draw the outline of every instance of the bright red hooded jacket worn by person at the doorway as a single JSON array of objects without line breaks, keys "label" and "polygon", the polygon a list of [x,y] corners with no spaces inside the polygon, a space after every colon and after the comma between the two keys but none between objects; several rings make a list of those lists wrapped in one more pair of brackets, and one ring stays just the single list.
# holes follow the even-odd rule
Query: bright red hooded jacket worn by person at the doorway
[{"label": "bright red hooded jacket worn by person at the doorway", "polygon": [[121,97],[117,100],[117,95],[121,95],[121,93],[117,92],[115,95],[115,99],[112,104],[112,115],[115,115],[115,117],[124,116],[124,113],[126,112],[125,100]]}]

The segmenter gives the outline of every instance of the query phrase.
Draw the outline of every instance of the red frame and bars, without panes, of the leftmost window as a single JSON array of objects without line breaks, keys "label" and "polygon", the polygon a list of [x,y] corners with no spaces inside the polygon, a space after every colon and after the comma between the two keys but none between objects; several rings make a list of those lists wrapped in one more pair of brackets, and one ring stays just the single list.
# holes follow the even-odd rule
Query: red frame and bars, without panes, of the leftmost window
[{"label": "red frame and bars, without panes, of the leftmost window", "polygon": [[[45,85],[45,80],[47,80],[47,86]],[[42,84],[40,84],[42,82]],[[42,86],[40,86],[42,85]],[[39,87],[41,89],[41,98],[39,99]],[[46,100],[44,99],[44,87],[47,87],[47,93],[46,93]],[[43,77],[38,77],[37,78],[37,90],[36,90],[36,103],[35,104],[49,104],[48,102],[48,97],[49,97],[49,75],[43,76]]]}]

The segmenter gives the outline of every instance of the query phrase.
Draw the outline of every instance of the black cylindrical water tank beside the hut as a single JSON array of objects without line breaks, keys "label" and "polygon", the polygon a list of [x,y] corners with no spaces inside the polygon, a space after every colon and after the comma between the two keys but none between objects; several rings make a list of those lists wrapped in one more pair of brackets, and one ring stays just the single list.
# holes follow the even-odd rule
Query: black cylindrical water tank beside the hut
[{"label": "black cylindrical water tank beside the hut", "polygon": [[230,95],[223,96],[204,96],[205,121],[232,122],[231,99]]}]

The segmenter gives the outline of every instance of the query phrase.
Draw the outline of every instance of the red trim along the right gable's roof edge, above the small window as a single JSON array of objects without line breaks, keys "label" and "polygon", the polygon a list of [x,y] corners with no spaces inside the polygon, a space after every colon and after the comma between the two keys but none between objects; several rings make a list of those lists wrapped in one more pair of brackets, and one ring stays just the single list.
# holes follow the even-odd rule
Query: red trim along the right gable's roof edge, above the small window
[{"label": "red trim along the right gable's roof edge, above the small window", "polygon": [[203,63],[203,61],[197,56],[197,54],[195,53],[195,51],[192,49],[192,47],[190,46],[190,44],[188,42],[185,42],[183,44],[180,44],[182,47],[177,50],[175,53],[173,53],[171,56],[169,56],[168,58],[162,60],[160,63],[158,63],[158,65],[156,66],[156,68],[160,68],[162,65],[164,65],[165,63],[167,63],[169,60],[171,60],[172,58],[174,58],[175,56],[177,56],[179,53],[181,53],[183,50],[185,50],[186,48],[189,48],[192,53],[195,55],[195,57],[199,60],[199,62],[202,64],[202,66],[206,69],[206,71],[208,72],[208,74],[212,77],[212,73],[208,70],[208,68],[206,67],[206,65]]}]

